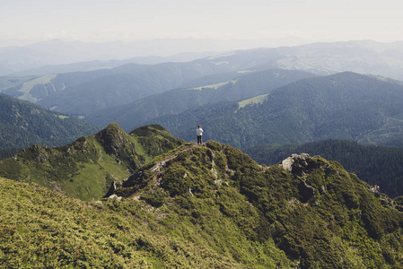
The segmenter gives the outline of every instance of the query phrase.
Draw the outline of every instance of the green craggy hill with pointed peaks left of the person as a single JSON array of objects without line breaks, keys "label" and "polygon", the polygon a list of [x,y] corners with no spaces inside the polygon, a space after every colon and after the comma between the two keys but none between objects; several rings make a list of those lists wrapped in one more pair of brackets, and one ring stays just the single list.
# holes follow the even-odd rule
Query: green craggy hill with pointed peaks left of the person
[{"label": "green craggy hill with pointed peaks left of the person", "polygon": [[123,181],[154,156],[181,143],[162,126],[144,126],[127,134],[110,124],[65,146],[32,145],[13,159],[0,161],[0,176],[91,201],[107,194],[113,182]]}]

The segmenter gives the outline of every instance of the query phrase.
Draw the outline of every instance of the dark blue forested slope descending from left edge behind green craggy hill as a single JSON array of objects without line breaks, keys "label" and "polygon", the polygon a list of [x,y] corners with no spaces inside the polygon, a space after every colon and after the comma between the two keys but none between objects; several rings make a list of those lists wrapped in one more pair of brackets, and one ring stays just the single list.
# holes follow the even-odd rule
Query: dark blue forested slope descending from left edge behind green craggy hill
[{"label": "dark blue forested slope descending from left edge behind green craggy hill", "polygon": [[99,130],[78,117],[52,112],[1,93],[0,121],[0,150],[4,151],[32,143],[62,145]]}]

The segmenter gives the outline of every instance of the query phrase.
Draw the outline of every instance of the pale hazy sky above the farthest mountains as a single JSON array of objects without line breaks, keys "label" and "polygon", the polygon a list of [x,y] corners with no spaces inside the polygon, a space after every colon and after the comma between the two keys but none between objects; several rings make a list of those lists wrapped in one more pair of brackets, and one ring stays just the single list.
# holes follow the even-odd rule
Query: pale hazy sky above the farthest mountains
[{"label": "pale hazy sky above the farthest mountains", "polygon": [[403,40],[402,0],[0,0],[0,47],[48,39]]}]

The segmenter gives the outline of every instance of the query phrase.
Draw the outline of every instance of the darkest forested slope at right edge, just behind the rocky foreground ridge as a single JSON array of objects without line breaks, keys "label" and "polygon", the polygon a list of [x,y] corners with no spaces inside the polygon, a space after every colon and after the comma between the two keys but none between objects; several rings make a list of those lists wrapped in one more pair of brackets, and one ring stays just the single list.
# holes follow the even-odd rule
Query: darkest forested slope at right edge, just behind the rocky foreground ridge
[{"label": "darkest forested slope at right edge, just behind the rocky foreground ridge", "polygon": [[320,155],[338,161],[358,178],[377,185],[390,197],[403,195],[403,149],[361,144],[355,141],[329,139],[303,144],[259,144],[246,149],[250,157],[267,165],[283,161],[293,152]]}]

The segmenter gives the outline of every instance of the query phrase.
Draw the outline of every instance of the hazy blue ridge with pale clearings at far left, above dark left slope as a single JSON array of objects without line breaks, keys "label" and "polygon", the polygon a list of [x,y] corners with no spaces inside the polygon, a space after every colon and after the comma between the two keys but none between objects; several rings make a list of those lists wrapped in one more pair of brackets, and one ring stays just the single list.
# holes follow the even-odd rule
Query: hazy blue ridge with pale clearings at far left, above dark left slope
[{"label": "hazy blue ridge with pale clearings at far left, above dark left slope", "polygon": [[229,72],[211,62],[127,64],[110,69],[30,77],[3,77],[0,91],[44,108],[87,116],[180,87],[208,74]]}]

